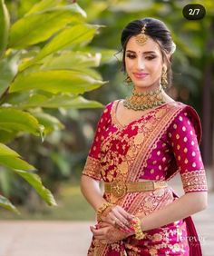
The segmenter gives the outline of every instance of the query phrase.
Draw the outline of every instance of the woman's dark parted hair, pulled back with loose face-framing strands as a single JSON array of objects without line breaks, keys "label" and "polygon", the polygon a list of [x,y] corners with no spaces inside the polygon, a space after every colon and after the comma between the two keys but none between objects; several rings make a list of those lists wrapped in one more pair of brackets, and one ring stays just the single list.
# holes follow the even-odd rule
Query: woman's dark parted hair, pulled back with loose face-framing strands
[{"label": "woman's dark parted hair, pulled back with loose face-framing strands", "polygon": [[171,39],[170,31],[167,26],[158,19],[144,18],[141,20],[131,21],[122,30],[121,44],[122,44],[122,71],[126,72],[125,67],[125,50],[131,36],[141,34],[141,28],[146,24],[145,34],[149,35],[160,46],[163,61],[167,64],[167,78],[168,84],[171,83],[171,56],[170,59],[167,54],[170,54],[173,49],[173,41]]}]

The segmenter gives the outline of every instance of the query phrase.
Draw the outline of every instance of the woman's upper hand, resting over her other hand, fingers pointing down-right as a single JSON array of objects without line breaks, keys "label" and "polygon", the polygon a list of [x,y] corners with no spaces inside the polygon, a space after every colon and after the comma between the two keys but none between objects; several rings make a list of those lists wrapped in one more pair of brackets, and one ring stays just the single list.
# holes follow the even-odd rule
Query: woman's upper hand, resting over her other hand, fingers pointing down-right
[{"label": "woman's upper hand, resting over her other hand, fingers pointing down-right", "polygon": [[113,205],[102,212],[102,222],[107,222],[121,231],[131,232],[133,216],[120,205]]}]

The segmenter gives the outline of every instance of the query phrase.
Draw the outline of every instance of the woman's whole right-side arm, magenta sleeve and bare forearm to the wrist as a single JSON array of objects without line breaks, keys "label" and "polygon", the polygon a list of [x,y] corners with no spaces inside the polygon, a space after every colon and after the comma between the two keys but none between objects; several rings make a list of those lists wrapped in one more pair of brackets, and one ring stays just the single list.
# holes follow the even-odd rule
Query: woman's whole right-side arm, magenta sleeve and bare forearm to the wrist
[{"label": "woman's whole right-side arm, magenta sleeve and bare forearm to the wrist", "polygon": [[141,216],[142,231],[179,221],[207,207],[208,188],[199,152],[197,124],[199,126],[199,120],[190,118],[189,113],[184,111],[170,125],[169,143],[180,170],[185,194],[157,212]]}]

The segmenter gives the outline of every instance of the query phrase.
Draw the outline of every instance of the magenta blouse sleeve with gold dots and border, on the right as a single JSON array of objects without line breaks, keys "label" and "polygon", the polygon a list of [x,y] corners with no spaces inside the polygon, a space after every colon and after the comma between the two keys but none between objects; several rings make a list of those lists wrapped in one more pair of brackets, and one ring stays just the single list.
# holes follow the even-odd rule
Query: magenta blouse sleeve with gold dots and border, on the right
[{"label": "magenta blouse sleeve with gold dots and border, on the right", "polygon": [[193,113],[195,116],[188,111],[181,111],[170,124],[169,131],[170,143],[185,193],[208,191],[206,173],[199,151],[201,126],[199,116],[196,112]]}]

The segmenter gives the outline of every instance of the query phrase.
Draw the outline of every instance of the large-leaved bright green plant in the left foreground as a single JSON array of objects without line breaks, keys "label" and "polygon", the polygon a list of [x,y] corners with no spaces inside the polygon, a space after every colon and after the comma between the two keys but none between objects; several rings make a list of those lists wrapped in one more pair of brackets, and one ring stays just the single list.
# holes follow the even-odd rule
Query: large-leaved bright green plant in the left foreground
[{"label": "large-leaved bright green plant in the left foreground", "polygon": [[[48,109],[102,107],[81,95],[105,84],[92,69],[100,65],[102,54],[86,47],[101,26],[87,24],[85,11],[76,3],[31,1],[28,10],[26,1],[22,3],[24,15],[10,25],[7,7],[0,1],[0,172],[14,172],[45,202],[56,205],[53,194],[33,172],[34,166],[4,143],[26,134],[40,136],[44,142],[46,135],[62,130],[56,112]],[[3,195],[0,206],[17,212]]]}]

